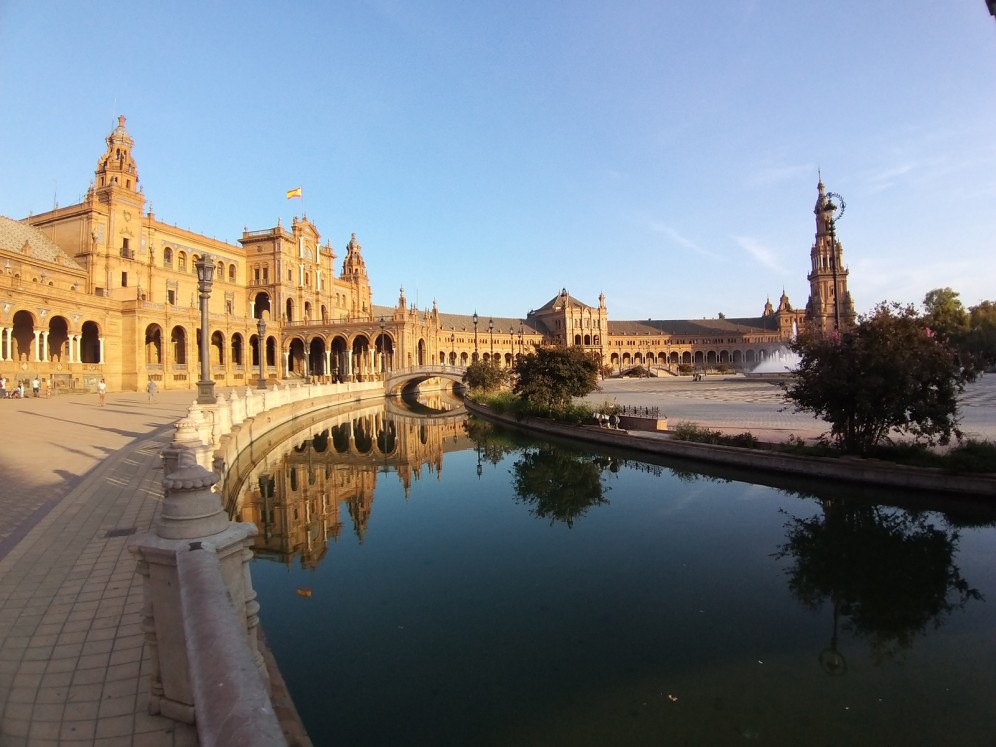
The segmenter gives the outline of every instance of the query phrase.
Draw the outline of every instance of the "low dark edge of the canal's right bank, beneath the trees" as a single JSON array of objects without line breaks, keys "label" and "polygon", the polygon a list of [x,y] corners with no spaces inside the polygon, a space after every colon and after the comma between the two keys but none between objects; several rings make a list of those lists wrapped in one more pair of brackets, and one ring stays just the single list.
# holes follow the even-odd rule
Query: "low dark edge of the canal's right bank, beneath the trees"
[{"label": "low dark edge of the canal's right bank, beneath the trees", "polygon": [[517,419],[467,398],[468,412],[485,420],[560,438],[603,444],[660,456],[724,464],[807,478],[824,478],[878,487],[996,498],[996,475],[969,475],[929,467],[907,467],[860,457],[809,457],[736,446],[678,441],[667,433],[627,431],[597,425],[568,425],[543,418]]}]

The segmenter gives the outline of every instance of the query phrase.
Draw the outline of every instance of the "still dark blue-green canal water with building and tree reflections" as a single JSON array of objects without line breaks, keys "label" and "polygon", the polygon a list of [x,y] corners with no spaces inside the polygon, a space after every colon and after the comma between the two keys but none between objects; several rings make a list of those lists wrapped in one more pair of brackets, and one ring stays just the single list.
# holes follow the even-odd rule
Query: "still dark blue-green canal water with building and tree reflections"
[{"label": "still dark blue-green canal water with building and tree reflections", "polygon": [[992,511],[752,484],[434,404],[323,414],[238,491],[316,745],[996,738]]}]

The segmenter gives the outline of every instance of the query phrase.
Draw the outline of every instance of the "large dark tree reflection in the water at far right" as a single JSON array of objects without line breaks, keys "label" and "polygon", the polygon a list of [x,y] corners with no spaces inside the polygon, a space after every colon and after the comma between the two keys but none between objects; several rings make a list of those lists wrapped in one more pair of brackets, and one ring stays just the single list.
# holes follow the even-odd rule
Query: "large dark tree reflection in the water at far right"
[{"label": "large dark tree reflection in the water at far right", "polygon": [[788,542],[777,557],[795,561],[789,588],[810,609],[830,600],[834,638],[839,614],[845,628],[871,641],[878,661],[981,598],[953,562],[958,533],[924,515],[828,501],[822,517],[793,517],[786,528]]}]

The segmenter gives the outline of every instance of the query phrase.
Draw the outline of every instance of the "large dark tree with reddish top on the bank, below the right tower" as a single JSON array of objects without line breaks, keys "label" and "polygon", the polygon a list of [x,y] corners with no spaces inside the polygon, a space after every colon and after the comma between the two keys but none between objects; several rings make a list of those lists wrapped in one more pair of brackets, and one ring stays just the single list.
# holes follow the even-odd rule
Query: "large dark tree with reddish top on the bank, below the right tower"
[{"label": "large dark tree with reddish top on the bank, below the right tower", "polygon": [[968,374],[912,306],[880,304],[851,332],[809,332],[792,349],[800,362],[786,397],[830,423],[845,452],[866,454],[893,430],[931,445],[961,437],[958,395]]}]

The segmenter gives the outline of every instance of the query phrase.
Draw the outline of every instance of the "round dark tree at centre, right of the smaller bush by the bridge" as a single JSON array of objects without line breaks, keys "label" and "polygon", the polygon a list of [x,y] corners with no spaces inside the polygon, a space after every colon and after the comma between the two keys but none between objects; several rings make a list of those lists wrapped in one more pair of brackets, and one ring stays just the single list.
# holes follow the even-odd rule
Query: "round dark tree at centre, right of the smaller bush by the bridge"
[{"label": "round dark tree at centre, right of the smaller bush by the bridge", "polygon": [[578,347],[537,347],[515,364],[513,391],[527,402],[561,410],[598,389],[599,362]]}]

